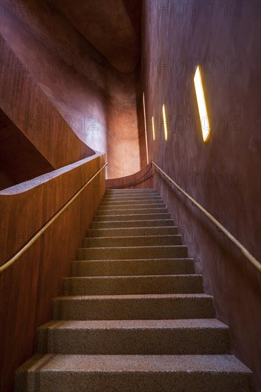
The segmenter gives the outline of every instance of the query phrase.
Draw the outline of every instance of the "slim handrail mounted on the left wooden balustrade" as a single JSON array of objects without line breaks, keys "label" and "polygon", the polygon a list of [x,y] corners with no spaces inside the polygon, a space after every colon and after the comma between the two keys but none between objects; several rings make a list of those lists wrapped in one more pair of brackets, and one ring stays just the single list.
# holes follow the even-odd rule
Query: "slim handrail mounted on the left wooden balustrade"
[{"label": "slim handrail mounted on the left wooden balustrade", "polygon": [[76,199],[76,197],[78,197],[78,195],[81,194],[81,192],[83,192],[83,190],[87,187],[87,185],[90,184],[90,182],[92,182],[94,180],[95,177],[97,177],[97,175],[101,172],[101,170],[103,170],[106,166],[108,165],[108,163],[105,163],[101,169],[99,169],[91,178],[90,180],[88,180],[82,187],[80,190],[78,190],[78,192],[76,192],[76,194],[71,197],[71,199],[66,202],[65,205],[63,205],[63,207],[61,207],[60,210],[58,210],[58,212],[56,212],[56,215],[53,215],[53,217],[48,220],[48,222],[46,223],[46,225],[44,225],[44,227],[42,227],[35,235],[34,237],[32,237],[29,242],[27,242],[24,247],[22,247],[19,252],[17,252],[13,257],[11,257],[11,259],[8,260],[8,262],[4,263],[1,267],[0,267],[0,274],[2,272],[4,272],[7,268],[11,267],[12,264],[14,264],[14,262],[16,262],[22,254],[24,254],[24,252],[26,252],[27,249],[29,249],[29,247],[31,247],[31,245],[34,244],[34,242],[36,242],[37,239],[39,239],[40,237],[43,236],[44,232],[46,231],[46,229],[63,213],[63,211],[67,210],[68,206],[71,205],[71,203],[73,202],[73,200]]}]

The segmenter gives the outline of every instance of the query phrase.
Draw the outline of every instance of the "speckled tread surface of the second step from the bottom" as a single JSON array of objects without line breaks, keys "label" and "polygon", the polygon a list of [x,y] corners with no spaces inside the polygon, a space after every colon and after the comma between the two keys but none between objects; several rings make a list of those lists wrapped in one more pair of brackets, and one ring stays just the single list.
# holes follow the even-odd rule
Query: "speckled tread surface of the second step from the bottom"
[{"label": "speckled tread surface of the second step from the bottom", "polygon": [[218,319],[48,321],[39,329],[228,329]]}]

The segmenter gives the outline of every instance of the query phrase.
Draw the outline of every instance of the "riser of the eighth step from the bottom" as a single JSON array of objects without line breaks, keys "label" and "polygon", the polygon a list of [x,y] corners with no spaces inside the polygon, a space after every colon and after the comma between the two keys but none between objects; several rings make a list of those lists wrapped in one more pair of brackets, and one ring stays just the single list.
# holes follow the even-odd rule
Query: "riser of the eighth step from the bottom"
[{"label": "riser of the eighth step from the bottom", "polygon": [[88,229],[86,237],[136,237],[149,235],[175,235],[178,234],[177,226],[165,227],[121,227],[111,229]]}]

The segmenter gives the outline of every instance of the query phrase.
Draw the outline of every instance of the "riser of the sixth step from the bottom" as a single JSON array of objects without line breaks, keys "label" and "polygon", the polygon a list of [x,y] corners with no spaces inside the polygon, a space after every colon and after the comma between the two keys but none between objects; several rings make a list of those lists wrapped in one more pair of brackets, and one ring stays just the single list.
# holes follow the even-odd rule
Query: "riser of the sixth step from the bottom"
[{"label": "riser of the sixth step from the bottom", "polygon": [[180,257],[188,257],[188,248],[186,246],[78,249],[78,260],[175,259]]}]

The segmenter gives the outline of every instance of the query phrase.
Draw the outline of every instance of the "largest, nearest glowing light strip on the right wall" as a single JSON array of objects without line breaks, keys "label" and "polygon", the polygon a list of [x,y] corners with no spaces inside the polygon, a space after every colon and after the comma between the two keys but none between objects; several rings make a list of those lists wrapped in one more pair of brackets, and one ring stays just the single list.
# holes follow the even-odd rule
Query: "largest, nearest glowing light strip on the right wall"
[{"label": "largest, nearest glowing light strip on the right wall", "polygon": [[206,140],[208,140],[210,136],[210,122],[208,118],[207,107],[205,104],[205,94],[204,94],[199,66],[195,71],[194,84],[195,84],[195,92],[198,101],[198,111],[200,113],[200,123],[201,123],[201,129],[203,134],[203,140],[205,142]]}]

